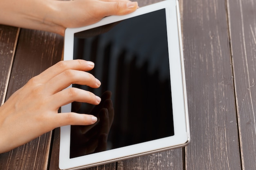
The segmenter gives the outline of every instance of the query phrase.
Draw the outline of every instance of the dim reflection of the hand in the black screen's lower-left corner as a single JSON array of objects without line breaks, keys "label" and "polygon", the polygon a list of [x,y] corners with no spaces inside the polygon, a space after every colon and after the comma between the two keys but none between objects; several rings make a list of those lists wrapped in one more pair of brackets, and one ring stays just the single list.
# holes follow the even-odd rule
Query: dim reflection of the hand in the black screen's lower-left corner
[{"label": "dim reflection of the hand in the black screen's lower-left corner", "polygon": [[[90,126],[71,126],[70,158],[101,152],[107,149],[108,133],[114,119],[114,108],[110,99],[111,92],[106,91],[101,96],[101,103],[90,111],[90,115],[98,121]],[[72,111],[80,110],[81,103],[73,102]]]}]

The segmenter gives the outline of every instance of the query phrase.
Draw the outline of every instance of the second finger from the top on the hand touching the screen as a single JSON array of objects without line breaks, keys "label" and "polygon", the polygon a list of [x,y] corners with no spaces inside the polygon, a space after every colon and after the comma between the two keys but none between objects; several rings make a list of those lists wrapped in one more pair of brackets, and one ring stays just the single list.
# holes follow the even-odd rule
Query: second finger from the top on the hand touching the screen
[{"label": "second finger from the top on the hand touching the screen", "polygon": [[66,70],[50,79],[46,83],[46,88],[49,89],[50,93],[54,94],[67,88],[70,84],[80,84],[92,88],[99,88],[101,82],[88,72]]}]

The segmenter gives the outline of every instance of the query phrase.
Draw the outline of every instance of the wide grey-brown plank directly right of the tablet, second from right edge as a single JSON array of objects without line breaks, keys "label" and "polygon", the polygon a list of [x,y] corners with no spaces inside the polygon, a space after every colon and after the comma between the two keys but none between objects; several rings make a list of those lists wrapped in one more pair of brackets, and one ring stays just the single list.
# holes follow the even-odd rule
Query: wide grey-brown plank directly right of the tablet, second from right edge
[{"label": "wide grey-brown plank directly right of the tablet, second from right edge", "polygon": [[241,169],[226,16],[223,0],[183,0],[191,130],[186,170]]}]

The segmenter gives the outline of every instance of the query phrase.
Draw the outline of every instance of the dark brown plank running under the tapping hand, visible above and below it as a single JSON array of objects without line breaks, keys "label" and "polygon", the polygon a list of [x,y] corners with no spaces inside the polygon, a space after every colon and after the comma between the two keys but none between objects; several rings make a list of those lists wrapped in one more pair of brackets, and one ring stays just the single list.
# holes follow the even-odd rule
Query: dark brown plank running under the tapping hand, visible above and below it
[{"label": "dark brown plank running under the tapping hand, visible above and below it", "polygon": [[[63,37],[43,31],[21,29],[7,98],[31,77],[61,60]],[[45,170],[48,166],[51,132],[0,155],[0,169]]]}]

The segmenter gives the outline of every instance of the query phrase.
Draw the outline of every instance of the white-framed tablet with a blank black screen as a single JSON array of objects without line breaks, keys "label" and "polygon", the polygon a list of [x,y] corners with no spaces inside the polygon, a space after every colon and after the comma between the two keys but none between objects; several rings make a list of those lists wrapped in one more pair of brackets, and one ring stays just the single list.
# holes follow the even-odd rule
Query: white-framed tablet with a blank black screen
[{"label": "white-framed tablet with a blank black screen", "polygon": [[[64,60],[95,63],[97,106],[73,102],[61,112],[92,114],[90,126],[61,127],[59,168],[83,169],[189,143],[178,1],[66,29]],[[61,113],[60,113],[61,114]]]}]

